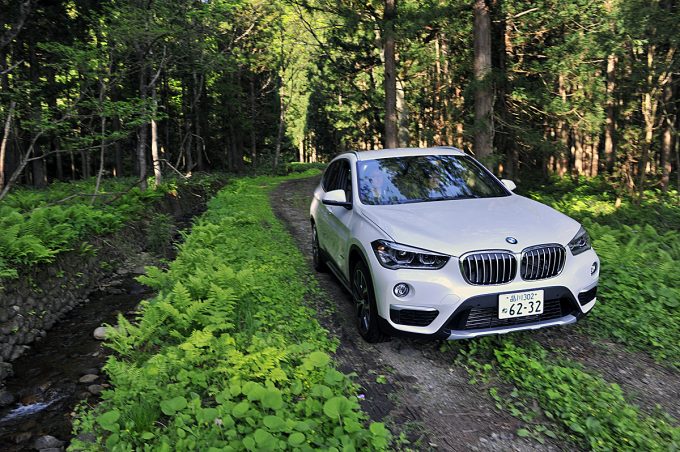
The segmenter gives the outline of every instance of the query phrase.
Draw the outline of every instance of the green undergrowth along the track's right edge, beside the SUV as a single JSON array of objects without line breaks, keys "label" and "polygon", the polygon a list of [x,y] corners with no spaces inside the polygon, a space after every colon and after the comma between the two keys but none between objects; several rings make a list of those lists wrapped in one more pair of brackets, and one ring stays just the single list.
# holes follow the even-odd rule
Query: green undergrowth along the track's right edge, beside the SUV
[{"label": "green undergrowth along the track's right edge, beside the SUV", "polygon": [[602,260],[599,303],[583,326],[680,369],[678,194],[617,207],[605,181],[564,179],[530,195],[582,221]]}]

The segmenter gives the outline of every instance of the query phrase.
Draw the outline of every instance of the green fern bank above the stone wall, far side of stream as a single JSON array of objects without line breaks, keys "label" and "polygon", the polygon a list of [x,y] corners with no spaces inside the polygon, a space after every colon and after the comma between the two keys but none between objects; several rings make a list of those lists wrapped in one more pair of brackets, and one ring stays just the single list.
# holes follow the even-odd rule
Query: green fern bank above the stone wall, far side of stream
[{"label": "green fern bank above the stone wall, far side of stream", "polygon": [[50,262],[86,237],[120,229],[180,185],[209,186],[213,181],[214,176],[169,180],[142,192],[131,188],[133,179],[109,179],[92,205],[94,179],[54,183],[49,190],[17,189],[0,202],[0,279],[15,278],[20,266]]}]

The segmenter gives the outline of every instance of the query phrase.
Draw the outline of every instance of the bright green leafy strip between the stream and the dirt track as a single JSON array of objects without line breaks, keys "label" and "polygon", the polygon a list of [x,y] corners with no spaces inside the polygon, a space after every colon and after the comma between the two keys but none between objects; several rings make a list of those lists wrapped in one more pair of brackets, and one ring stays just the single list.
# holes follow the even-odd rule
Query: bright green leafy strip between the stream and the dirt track
[{"label": "bright green leafy strip between the stream and the dirt track", "polygon": [[75,423],[96,443],[72,449],[387,447],[389,432],[367,425],[329,356],[336,343],[304,304],[315,283],[269,205],[281,180],[234,181],[169,269],[149,269],[143,282],[158,296],[108,340],[114,389]]}]

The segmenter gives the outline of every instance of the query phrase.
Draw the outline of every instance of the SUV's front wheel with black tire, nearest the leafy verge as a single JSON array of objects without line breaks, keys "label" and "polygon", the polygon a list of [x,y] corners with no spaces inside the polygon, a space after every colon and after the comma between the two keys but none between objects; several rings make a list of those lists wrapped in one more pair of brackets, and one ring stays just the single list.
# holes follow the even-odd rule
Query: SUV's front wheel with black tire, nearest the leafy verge
[{"label": "SUV's front wheel with black tire, nearest the leafy verge", "polygon": [[380,331],[378,323],[378,308],[371,273],[363,261],[359,261],[352,269],[352,299],[356,310],[357,329],[361,337],[372,344],[387,340],[388,336]]}]

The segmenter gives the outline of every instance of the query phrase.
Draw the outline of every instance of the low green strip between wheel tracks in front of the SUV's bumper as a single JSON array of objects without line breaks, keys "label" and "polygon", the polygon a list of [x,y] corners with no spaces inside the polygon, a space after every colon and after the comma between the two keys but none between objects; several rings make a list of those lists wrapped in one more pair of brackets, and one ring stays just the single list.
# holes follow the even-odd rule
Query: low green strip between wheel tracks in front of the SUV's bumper
[{"label": "low green strip between wheel tracks in front of the SUV's bumper", "polygon": [[[518,436],[557,437],[534,419],[541,416],[559,436],[592,450],[675,450],[680,428],[668,416],[647,416],[628,403],[616,384],[585,371],[568,360],[555,361],[525,336],[484,338],[469,345],[461,362],[475,378],[497,375],[513,386],[505,397],[492,396],[528,423]],[[508,400],[509,399],[509,400]],[[538,404],[538,409],[528,407]],[[533,411],[533,413],[532,413]],[[537,412],[536,412],[537,411]]]}]

